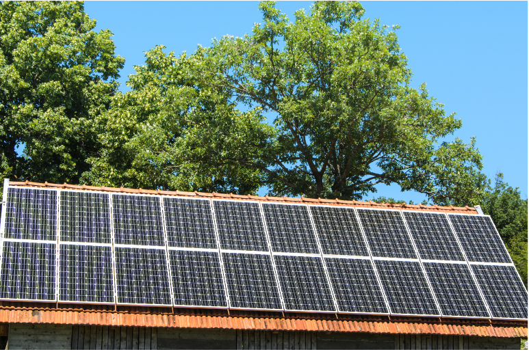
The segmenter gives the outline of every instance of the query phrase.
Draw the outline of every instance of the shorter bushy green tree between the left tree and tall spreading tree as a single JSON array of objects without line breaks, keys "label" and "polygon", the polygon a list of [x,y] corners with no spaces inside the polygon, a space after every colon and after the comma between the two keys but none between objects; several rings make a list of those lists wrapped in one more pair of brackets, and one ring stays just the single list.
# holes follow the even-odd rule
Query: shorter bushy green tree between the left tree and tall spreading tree
[{"label": "shorter bushy green tree between the left tree and tall spreading tree", "polygon": [[[259,109],[242,113],[223,90],[201,87],[194,58],[146,52],[103,120],[99,156],[83,181],[149,189],[256,193],[261,172],[236,162],[261,154],[274,129]],[[235,159],[235,162],[232,162]]]}]

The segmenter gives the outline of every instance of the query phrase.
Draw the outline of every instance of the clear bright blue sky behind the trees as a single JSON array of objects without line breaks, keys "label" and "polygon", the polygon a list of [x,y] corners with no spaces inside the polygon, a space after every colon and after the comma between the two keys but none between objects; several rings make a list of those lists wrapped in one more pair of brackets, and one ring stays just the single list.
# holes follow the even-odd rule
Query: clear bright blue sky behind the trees
[{"label": "clear bright blue sky behind the trees", "polygon": [[[475,136],[483,170],[496,172],[528,195],[528,3],[526,1],[361,1],[364,18],[400,25],[402,51],[413,72],[412,85],[426,82],[431,96],[456,112],[463,127],[455,137]],[[177,55],[208,46],[211,38],[243,36],[261,22],[257,2],[250,1],[86,1],[96,30],[114,33],[116,53],[125,57],[121,90],[133,66],[144,64],[144,51],[163,44]],[[280,1],[279,8],[308,12],[311,2]],[[452,141],[454,137],[446,140]],[[378,193],[415,204],[421,193],[398,185],[377,186]],[[266,194],[261,189],[260,195]]]}]

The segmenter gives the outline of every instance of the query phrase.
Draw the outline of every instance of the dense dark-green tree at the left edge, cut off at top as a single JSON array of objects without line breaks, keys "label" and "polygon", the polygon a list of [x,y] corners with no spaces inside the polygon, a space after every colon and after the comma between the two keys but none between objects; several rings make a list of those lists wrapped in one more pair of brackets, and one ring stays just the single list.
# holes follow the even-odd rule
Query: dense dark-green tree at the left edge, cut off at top
[{"label": "dense dark-green tree at the left edge, cut off at top", "polygon": [[[125,59],[82,2],[0,3],[0,160],[10,179],[78,183]],[[23,155],[16,153],[24,146]]]}]

